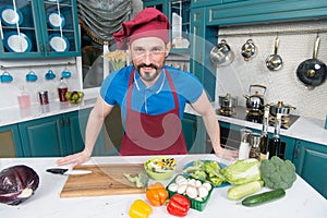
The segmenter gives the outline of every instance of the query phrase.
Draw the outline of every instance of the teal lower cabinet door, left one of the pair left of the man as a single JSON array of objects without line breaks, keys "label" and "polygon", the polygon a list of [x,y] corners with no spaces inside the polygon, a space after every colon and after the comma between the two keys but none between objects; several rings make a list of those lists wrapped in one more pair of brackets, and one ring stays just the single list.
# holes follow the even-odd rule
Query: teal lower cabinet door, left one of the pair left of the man
[{"label": "teal lower cabinet door, left one of the pair left of the man", "polygon": [[64,128],[62,116],[37,119],[19,124],[25,157],[64,156]]}]

